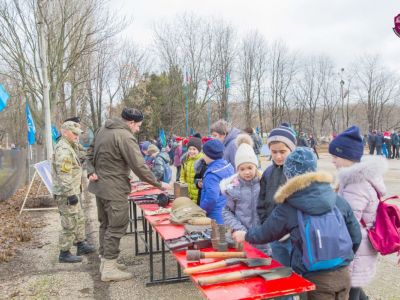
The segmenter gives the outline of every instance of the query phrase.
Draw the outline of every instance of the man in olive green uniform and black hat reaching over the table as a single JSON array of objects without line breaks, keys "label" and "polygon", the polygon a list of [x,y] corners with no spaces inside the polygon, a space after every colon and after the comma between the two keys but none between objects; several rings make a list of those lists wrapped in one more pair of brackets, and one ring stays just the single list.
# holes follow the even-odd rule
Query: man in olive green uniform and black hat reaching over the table
[{"label": "man in olive green uniform and black hat reaching over the table", "polygon": [[124,108],[121,117],[107,120],[87,151],[89,192],[96,195],[100,222],[102,281],[132,278],[131,273],[124,272],[117,264],[120,239],[125,235],[129,223],[131,170],[142,181],[161,189],[169,188],[168,184],[158,181],[145,164],[134,136],[142,125],[142,112]]}]

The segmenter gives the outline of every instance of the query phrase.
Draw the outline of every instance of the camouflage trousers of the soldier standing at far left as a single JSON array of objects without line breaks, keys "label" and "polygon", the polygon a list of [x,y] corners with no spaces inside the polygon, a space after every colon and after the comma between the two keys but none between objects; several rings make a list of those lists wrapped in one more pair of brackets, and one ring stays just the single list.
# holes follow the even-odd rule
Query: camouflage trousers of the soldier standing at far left
[{"label": "camouflage trousers of the soldier standing at far left", "polygon": [[85,217],[81,207],[81,197],[78,197],[79,202],[76,205],[69,205],[67,197],[56,197],[62,227],[59,236],[61,251],[69,251],[74,243],[85,240]]}]

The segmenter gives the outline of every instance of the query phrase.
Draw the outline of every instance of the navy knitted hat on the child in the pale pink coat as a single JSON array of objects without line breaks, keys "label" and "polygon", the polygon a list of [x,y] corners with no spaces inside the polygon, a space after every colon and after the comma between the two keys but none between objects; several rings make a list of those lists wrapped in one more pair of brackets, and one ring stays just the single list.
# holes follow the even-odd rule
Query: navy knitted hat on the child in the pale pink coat
[{"label": "navy knitted hat on the child in the pale pink coat", "polygon": [[360,128],[351,126],[336,136],[329,144],[329,153],[351,161],[360,161],[364,153]]}]

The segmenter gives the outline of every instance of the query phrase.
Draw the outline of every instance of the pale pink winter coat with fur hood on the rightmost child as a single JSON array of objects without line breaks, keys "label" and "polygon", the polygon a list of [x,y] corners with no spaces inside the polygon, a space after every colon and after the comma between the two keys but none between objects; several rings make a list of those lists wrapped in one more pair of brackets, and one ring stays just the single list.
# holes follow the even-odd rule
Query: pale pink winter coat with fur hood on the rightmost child
[{"label": "pale pink winter coat with fur hood on the rightmost child", "polygon": [[[354,216],[361,218],[370,228],[376,217],[378,196],[386,193],[383,174],[387,171],[383,156],[365,156],[359,163],[342,168],[338,172],[339,192],[350,204]],[[375,276],[378,253],[372,248],[367,230],[360,224],[362,240],[353,262],[350,264],[351,286],[366,286]]]}]

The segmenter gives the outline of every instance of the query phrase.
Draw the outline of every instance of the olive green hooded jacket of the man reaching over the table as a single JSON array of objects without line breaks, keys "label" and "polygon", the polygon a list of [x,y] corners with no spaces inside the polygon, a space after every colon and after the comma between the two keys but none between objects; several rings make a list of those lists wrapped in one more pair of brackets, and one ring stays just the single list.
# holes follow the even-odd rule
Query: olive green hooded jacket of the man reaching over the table
[{"label": "olive green hooded jacket of the man reaching over the table", "polygon": [[129,126],[121,119],[107,120],[95,134],[87,151],[88,176],[98,180],[89,183],[89,192],[108,200],[125,200],[131,192],[130,171],[140,180],[158,188],[157,181],[145,164],[139,145]]}]

